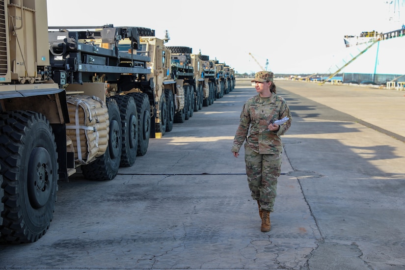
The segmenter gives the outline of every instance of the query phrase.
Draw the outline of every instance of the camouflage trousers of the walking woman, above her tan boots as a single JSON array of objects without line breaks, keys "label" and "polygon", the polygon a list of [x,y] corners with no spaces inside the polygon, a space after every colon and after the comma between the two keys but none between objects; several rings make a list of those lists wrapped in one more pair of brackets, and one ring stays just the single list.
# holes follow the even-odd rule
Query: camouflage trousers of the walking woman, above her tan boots
[{"label": "camouflage trousers of the walking woman, above her tan boots", "polygon": [[263,210],[274,211],[277,178],[281,172],[281,154],[263,155],[244,144],[247,183],[254,200],[260,200]]}]

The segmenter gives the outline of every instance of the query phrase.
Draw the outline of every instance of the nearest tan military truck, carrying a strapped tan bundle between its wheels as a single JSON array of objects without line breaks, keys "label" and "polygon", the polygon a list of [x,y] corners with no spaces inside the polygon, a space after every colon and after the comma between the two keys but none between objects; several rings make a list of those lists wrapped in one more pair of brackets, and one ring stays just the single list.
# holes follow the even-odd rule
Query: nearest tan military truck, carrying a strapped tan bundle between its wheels
[{"label": "nearest tan military truck, carrying a strapped tan bundle between its wheels", "polygon": [[151,88],[150,58],[117,50],[137,49],[136,27],[48,33],[46,1],[0,3],[0,235],[30,243],[50,226],[58,180],[111,180],[145,154],[151,104],[131,90]]}]

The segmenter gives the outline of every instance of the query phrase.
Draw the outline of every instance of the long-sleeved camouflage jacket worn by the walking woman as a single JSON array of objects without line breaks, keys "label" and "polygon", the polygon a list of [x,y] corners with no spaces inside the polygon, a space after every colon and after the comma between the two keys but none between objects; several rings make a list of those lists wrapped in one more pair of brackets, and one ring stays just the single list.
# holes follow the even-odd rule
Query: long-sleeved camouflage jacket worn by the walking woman
[{"label": "long-sleeved camouflage jacket worn by the walking woman", "polygon": [[[280,125],[278,131],[268,131],[270,123],[285,116],[290,120]],[[239,152],[246,139],[250,148],[259,154],[281,153],[283,147],[280,136],[290,128],[291,121],[290,108],[284,98],[274,93],[270,98],[261,98],[257,94],[243,105],[241,120],[231,151]]]}]

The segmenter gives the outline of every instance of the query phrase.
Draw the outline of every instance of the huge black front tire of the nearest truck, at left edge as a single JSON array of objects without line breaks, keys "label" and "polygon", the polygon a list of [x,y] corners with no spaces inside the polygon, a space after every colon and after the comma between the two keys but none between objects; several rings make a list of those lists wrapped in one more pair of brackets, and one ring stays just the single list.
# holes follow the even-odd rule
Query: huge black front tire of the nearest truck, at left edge
[{"label": "huge black front tire of the nearest truck, at left edge", "polygon": [[35,242],[52,221],[58,180],[55,137],[43,114],[0,114],[0,163],[2,241]]}]

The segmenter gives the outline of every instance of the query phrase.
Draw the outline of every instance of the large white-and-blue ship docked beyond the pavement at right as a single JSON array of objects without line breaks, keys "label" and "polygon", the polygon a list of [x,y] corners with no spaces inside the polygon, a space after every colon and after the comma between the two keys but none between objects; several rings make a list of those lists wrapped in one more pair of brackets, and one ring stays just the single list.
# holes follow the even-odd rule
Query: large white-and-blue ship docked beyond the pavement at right
[{"label": "large white-and-blue ship docked beyond the pavement at right", "polygon": [[342,68],[344,83],[405,81],[405,25],[399,23],[402,2],[396,0],[394,3],[396,18],[393,16],[390,20],[397,26],[392,31],[372,30],[344,37],[347,54],[351,58]]}]

